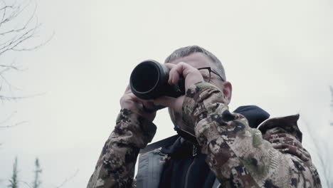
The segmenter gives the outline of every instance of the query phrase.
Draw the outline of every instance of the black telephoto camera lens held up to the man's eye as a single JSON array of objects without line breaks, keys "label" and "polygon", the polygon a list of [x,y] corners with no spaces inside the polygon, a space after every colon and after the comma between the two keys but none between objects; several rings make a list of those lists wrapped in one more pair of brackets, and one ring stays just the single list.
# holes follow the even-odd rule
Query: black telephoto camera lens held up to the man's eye
[{"label": "black telephoto camera lens held up to the man's eye", "polygon": [[185,80],[181,76],[179,82],[169,85],[169,68],[163,64],[147,60],[139,63],[132,71],[129,85],[138,98],[145,100],[169,96],[178,98],[185,94]]}]

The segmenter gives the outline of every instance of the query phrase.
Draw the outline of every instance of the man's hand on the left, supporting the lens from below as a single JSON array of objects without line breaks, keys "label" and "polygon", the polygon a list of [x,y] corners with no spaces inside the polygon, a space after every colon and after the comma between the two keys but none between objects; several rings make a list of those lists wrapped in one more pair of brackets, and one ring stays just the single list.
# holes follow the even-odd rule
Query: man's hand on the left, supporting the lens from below
[{"label": "man's hand on the left, supporting the lens from below", "polygon": [[120,107],[132,110],[134,113],[138,113],[142,117],[149,121],[153,121],[156,116],[156,111],[151,110],[154,108],[153,100],[142,100],[137,98],[132,93],[129,85],[127,86],[124,95],[120,98]]}]

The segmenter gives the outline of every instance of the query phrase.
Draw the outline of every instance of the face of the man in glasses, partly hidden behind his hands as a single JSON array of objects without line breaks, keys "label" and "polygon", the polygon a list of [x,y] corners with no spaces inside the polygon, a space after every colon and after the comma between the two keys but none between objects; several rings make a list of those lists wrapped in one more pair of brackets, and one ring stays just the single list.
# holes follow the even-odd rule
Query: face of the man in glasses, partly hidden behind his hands
[{"label": "face of the man in glasses, partly hidden behind his hands", "polygon": [[[211,61],[211,59],[208,58],[203,53],[192,53],[189,56],[176,59],[175,61],[171,61],[169,63],[177,64],[180,62],[188,63],[189,65],[193,66],[194,68],[211,67],[214,71],[217,70],[217,67]],[[228,105],[228,103],[230,103],[231,94],[232,94],[231,83],[223,82],[221,80],[221,78],[219,78],[218,75],[216,75],[214,73],[211,73],[210,83],[215,85],[216,87],[220,88],[220,90],[223,92],[223,95],[225,97],[226,105]],[[181,112],[175,112],[173,109],[169,108],[169,115],[170,115],[171,120],[174,123],[174,125],[180,125],[183,123]]]}]

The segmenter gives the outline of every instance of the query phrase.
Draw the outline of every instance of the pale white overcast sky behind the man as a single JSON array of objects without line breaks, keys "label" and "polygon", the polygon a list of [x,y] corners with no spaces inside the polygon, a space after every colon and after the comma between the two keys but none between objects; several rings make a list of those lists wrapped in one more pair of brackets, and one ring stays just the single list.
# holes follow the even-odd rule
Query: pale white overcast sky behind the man
[{"label": "pale white overcast sky behind the man", "polygon": [[[303,144],[323,178],[309,134],[324,145],[333,129],[332,1],[37,4],[41,38],[53,31],[55,36],[37,51],[6,58],[28,68],[9,75],[21,89],[14,90],[15,96],[45,94],[1,104],[0,120],[17,111],[9,123],[28,121],[0,130],[1,187],[8,184],[15,156],[26,182],[32,181],[34,158],[39,157],[42,187],[58,186],[77,169],[63,187],[86,187],[134,66],[146,59],[163,62],[176,48],[189,45],[202,46],[223,62],[233,83],[231,110],[258,105],[271,117],[300,113]],[[154,123],[158,129],[153,141],[175,134],[166,110]]]}]

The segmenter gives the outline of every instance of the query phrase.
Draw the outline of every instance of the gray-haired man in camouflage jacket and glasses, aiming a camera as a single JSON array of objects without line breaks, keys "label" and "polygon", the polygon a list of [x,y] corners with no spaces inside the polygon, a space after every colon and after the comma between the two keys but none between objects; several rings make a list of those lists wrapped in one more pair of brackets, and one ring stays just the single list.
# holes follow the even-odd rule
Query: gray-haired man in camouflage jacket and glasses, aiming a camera
[{"label": "gray-haired man in camouflage jacket and glasses, aiming a camera", "polygon": [[[268,119],[256,106],[230,113],[231,83],[218,58],[199,46],[179,48],[164,65],[169,84],[184,76],[186,95],[141,100],[127,87],[89,188],[321,187],[301,144],[299,115]],[[193,130],[196,141],[178,135],[144,149],[157,130],[154,105],[168,107],[174,125]]]}]

